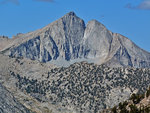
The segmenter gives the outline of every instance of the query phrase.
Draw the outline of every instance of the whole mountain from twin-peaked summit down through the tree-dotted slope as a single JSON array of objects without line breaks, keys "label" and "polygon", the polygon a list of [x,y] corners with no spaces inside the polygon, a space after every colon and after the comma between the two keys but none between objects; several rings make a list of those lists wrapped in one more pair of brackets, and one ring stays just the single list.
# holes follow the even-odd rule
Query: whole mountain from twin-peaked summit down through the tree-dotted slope
[{"label": "whole mountain from twin-peaked summit down through the tree-dotted slope", "polygon": [[146,91],[149,67],[150,53],[70,12],[42,29],[0,36],[0,112],[97,113]]}]

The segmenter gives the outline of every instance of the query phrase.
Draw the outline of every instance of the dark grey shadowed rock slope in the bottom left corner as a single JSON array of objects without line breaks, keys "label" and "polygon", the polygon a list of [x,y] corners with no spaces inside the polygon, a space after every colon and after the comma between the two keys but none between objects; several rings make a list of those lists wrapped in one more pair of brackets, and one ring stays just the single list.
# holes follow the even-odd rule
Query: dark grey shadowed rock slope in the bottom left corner
[{"label": "dark grey shadowed rock slope in the bottom left corner", "polygon": [[0,113],[31,113],[0,84]]}]

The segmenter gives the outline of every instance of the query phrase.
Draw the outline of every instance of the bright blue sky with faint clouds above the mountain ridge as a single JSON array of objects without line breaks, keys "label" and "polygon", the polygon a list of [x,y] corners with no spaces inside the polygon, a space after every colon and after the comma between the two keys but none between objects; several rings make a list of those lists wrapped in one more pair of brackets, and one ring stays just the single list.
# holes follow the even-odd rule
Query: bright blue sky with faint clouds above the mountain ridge
[{"label": "bright blue sky with faint clouds above the mountain ridge", "polygon": [[86,23],[98,20],[150,52],[150,0],[0,0],[0,35],[37,30],[70,11]]}]

